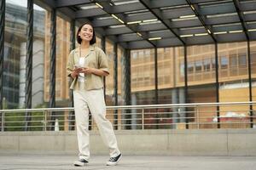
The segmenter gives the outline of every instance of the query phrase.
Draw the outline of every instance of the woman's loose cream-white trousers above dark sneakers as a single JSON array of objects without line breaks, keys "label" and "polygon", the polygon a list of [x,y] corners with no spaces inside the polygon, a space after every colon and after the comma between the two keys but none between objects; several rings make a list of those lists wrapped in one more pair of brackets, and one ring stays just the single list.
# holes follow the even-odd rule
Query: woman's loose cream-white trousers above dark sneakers
[{"label": "woman's loose cream-white trousers above dark sneakers", "polygon": [[[80,83],[82,84],[82,83]],[[113,133],[111,122],[106,119],[106,104],[103,89],[96,90],[74,90],[74,110],[79,142],[79,159],[89,160],[89,110],[94,118],[104,144],[108,146],[110,157],[118,156],[120,151],[117,140]]]}]

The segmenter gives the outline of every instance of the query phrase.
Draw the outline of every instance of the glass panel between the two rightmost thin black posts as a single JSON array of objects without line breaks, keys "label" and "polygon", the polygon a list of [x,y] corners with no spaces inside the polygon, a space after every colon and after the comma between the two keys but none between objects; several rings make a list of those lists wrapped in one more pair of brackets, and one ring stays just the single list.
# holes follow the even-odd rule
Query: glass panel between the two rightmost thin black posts
[{"label": "glass panel between the two rightmost thin black posts", "polygon": [[[247,42],[232,42],[218,44],[218,77],[219,102],[249,101]],[[219,108],[220,122],[227,120],[230,115],[247,116],[247,105],[221,106]],[[232,119],[232,118],[231,118]],[[235,119],[235,118],[234,118]],[[244,120],[248,122],[249,120]],[[221,127],[249,127],[249,124],[222,123]]]}]

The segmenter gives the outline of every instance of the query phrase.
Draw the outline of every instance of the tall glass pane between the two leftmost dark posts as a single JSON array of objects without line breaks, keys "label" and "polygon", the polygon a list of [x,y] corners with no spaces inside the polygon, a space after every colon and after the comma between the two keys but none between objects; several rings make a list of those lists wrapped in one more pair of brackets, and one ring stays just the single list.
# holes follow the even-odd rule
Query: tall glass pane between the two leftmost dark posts
[{"label": "tall glass pane between the two leftmost dark posts", "polygon": [[3,57],[5,109],[19,107],[20,58],[26,55],[26,11],[26,0],[6,2]]}]

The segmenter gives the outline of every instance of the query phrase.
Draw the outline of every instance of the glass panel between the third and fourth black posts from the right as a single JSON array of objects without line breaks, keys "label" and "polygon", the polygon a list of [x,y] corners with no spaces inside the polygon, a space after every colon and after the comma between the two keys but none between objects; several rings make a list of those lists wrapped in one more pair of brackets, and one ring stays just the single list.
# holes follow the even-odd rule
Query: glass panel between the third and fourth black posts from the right
[{"label": "glass panel between the third and fourth black posts from the right", "polygon": [[[182,104],[184,102],[184,48],[159,48],[157,50],[158,103]],[[175,128],[172,123],[183,124],[183,108],[173,107],[158,110],[158,128]],[[166,114],[172,112],[172,114]],[[170,125],[166,125],[170,124]],[[179,125],[181,124],[181,125]]]}]

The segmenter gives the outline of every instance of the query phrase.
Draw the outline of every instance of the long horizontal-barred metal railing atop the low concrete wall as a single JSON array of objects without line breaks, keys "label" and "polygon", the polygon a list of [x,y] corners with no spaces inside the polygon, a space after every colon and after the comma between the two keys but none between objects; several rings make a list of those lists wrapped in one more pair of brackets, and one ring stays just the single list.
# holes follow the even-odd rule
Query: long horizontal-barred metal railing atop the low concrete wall
[{"label": "long horizontal-barred metal railing atop the low concrete wall", "polygon": [[[254,105],[256,102],[108,106],[107,117],[116,130],[254,128]],[[1,110],[0,114],[2,132],[75,129],[74,111],[70,107]],[[90,130],[96,130],[91,116],[89,122]]]}]

